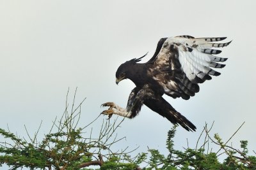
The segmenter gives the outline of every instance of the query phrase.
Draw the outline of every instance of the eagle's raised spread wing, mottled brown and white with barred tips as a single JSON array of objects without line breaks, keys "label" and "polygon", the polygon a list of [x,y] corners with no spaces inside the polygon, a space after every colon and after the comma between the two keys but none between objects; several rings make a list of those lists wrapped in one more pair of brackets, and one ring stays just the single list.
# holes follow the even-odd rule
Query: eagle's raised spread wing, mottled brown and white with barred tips
[{"label": "eagle's raised spread wing, mottled brown and white with barred tips", "polygon": [[156,53],[148,61],[152,64],[148,74],[163,87],[168,96],[189,99],[199,91],[198,83],[220,75],[212,67],[223,68],[225,65],[218,62],[224,62],[227,58],[216,57],[214,54],[221,53],[216,48],[227,46],[231,41],[212,42],[223,39],[226,38],[177,36],[160,39]]}]

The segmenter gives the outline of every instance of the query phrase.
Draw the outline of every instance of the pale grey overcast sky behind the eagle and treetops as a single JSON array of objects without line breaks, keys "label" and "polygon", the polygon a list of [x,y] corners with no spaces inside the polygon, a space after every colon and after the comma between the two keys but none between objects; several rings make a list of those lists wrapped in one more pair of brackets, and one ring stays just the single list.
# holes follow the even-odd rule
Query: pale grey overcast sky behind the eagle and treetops
[{"label": "pale grey overcast sky behind the eagle and treetops", "polygon": [[[221,76],[200,85],[195,97],[184,101],[165,97],[196,125],[197,132],[177,128],[177,149],[194,147],[205,122],[214,122],[212,134],[233,146],[247,139],[256,150],[255,135],[255,1],[0,1],[0,127],[26,136],[42,120],[40,135],[65,109],[76,87],[77,103],[86,97],[81,124],[88,124],[113,101],[125,107],[134,88],[130,80],[115,84],[120,64],[148,52],[160,38],[188,34],[227,36],[232,43],[221,49],[228,57]],[[113,116],[116,117],[116,116]],[[100,122],[106,117],[100,117]],[[163,152],[172,127],[166,118],[143,106],[138,117],[126,119],[118,136],[127,140],[116,147],[147,146]],[[0,140],[2,138],[0,137]],[[252,153],[252,152],[250,152]]]}]

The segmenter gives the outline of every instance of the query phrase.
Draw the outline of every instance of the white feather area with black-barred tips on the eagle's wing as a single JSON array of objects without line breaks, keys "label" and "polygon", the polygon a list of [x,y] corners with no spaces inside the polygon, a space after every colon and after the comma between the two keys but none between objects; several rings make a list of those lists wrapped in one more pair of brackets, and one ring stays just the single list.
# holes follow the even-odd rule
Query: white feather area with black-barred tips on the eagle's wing
[{"label": "white feather area with black-barred tips on the eagle's wing", "polygon": [[[182,67],[182,71],[186,74],[190,81],[195,79],[195,76],[198,78],[204,78],[205,74],[219,75],[220,73],[212,70],[209,67],[219,66],[213,61],[223,62],[227,59],[220,57],[215,57],[209,53],[204,53],[204,50],[207,49],[208,52],[212,47],[223,47],[227,46],[229,43],[209,43],[205,39],[211,38],[183,38],[183,37],[171,37],[166,39],[164,46],[175,45],[179,51],[179,61]],[[212,38],[213,39],[213,38]],[[218,40],[218,38],[216,38]],[[220,41],[220,40],[218,40]],[[189,51],[191,50],[191,51]],[[163,47],[161,53],[167,53],[168,47]],[[216,52],[212,49],[212,52]],[[224,67],[223,65],[222,67]]]}]

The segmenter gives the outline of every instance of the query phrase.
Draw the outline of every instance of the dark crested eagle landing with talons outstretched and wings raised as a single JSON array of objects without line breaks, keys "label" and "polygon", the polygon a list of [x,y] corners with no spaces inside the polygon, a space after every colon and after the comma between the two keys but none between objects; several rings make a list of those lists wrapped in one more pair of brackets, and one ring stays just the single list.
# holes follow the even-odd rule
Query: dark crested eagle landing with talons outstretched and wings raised
[{"label": "dark crested eagle landing with talons outstretched and wings raised", "polygon": [[102,114],[108,115],[109,118],[113,114],[134,118],[145,104],[172,124],[179,124],[187,131],[196,131],[196,126],[176,111],[163,95],[188,100],[199,92],[198,83],[211,80],[211,76],[219,76],[220,73],[212,68],[225,67],[225,64],[220,62],[225,62],[227,58],[216,57],[216,54],[221,53],[218,48],[229,45],[231,41],[216,41],[226,38],[194,38],[187,35],[161,38],[157,43],[156,52],[148,62],[138,63],[146,53],[118,67],[116,84],[121,80],[130,79],[136,87],[129,95],[126,108],[108,102],[102,104],[109,107],[108,110],[102,111]]}]

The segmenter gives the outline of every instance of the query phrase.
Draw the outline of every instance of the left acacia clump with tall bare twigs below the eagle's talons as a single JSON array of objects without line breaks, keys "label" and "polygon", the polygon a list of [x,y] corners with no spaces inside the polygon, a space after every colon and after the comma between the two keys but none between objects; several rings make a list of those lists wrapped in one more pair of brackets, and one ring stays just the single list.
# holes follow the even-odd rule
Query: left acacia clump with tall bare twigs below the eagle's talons
[{"label": "left acacia clump with tall bare twigs below the eagle's talons", "polygon": [[[10,131],[0,129],[0,135],[6,141],[0,141],[0,165],[7,164],[10,169],[28,167],[29,169],[83,169],[88,166],[108,166],[108,161],[127,154],[127,148],[113,152],[111,146],[124,138],[116,138],[116,129],[124,119],[114,121],[103,120],[98,138],[92,138],[84,132],[89,125],[77,127],[81,116],[81,104],[74,106],[76,92],[71,106],[68,106],[68,94],[65,111],[60,118],[54,120],[51,131],[44,139],[38,141],[38,131],[30,136],[26,126],[28,139],[19,138]],[[100,116],[100,115],[99,115]],[[86,131],[88,132],[88,131]],[[136,169],[134,164],[118,164],[119,167]]]}]

